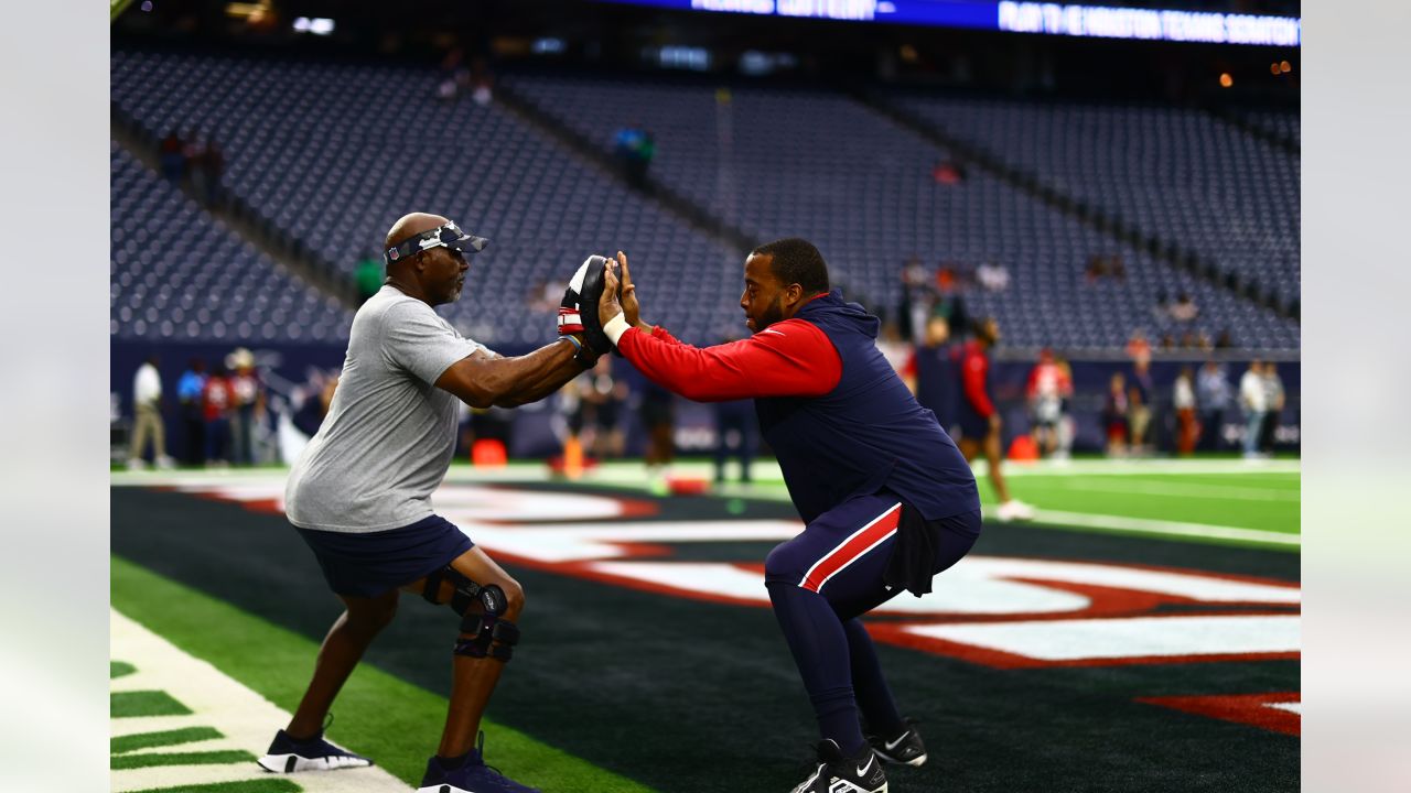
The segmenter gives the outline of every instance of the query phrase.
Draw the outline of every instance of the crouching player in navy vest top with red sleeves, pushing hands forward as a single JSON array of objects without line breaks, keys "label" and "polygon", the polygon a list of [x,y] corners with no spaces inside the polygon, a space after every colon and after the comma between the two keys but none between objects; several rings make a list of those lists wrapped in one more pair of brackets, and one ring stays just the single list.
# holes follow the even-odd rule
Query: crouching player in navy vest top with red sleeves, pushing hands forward
[{"label": "crouching player in navy vest top with red sleeves, pushing hands forward", "polygon": [[739,306],[753,336],[684,344],[641,320],[618,254],[598,316],[653,382],[700,402],[755,401],[807,523],[765,560],[823,735],[814,772],[794,793],[882,792],[883,762],[921,765],[927,755],[858,618],[903,590],[931,591],[931,579],[969,552],[981,529],[975,477],[878,350],[878,317],[830,289],[813,244],[787,238],[751,251]]}]

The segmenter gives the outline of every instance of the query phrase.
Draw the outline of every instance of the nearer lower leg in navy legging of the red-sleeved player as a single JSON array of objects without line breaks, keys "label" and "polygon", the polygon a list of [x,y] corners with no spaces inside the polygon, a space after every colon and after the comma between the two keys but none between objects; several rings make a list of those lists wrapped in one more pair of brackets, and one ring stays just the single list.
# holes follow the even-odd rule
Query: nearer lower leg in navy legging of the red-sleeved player
[{"label": "nearer lower leg in navy legging of the red-sleeved player", "polygon": [[816,591],[783,581],[769,581],[779,628],[789,642],[803,686],[818,720],[818,732],[838,742],[851,756],[866,741],[858,724],[848,662],[848,636],[838,615]]}]

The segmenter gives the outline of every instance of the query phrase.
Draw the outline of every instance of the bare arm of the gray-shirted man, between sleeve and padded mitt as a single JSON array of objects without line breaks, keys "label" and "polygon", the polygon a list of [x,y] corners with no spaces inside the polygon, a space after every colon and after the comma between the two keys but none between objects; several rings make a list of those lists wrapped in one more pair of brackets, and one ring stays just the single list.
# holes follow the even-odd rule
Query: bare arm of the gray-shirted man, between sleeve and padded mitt
[{"label": "bare arm of the gray-shirted man, between sleeve and padded mitt", "polygon": [[574,353],[566,339],[514,358],[477,350],[442,373],[436,387],[471,408],[518,408],[543,399],[581,374],[584,367]]}]

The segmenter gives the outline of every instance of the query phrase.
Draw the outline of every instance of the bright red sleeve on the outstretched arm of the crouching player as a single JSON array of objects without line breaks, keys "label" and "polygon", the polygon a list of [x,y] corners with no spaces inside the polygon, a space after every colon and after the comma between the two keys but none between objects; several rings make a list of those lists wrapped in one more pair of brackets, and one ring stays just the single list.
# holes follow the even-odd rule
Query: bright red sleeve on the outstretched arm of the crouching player
[{"label": "bright red sleeve on the outstretched arm of the crouching player", "polygon": [[776,322],[742,341],[693,347],[666,330],[629,329],[622,357],[658,385],[696,402],[758,396],[823,396],[842,378],[832,341],[801,319]]}]

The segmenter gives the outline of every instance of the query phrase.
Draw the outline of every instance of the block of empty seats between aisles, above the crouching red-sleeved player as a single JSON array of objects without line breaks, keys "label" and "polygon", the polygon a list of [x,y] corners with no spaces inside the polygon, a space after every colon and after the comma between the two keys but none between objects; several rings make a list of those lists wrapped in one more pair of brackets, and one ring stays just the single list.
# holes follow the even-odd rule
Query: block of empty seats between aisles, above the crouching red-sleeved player
[{"label": "block of empty seats between aisles, above the crouching red-sleeved player", "polygon": [[[1125,282],[1088,284],[1085,262],[1113,253],[1110,238],[982,172],[938,185],[931,168],[944,151],[835,93],[751,87],[727,96],[691,79],[512,73],[502,83],[604,148],[619,127],[643,126],[663,183],[762,240],[811,238],[840,281],[882,306],[896,305],[900,264],[917,254],[931,267],[1005,265],[1009,289],[967,299],[993,313],[1016,346],[1110,349],[1137,327],[1154,339],[1180,336],[1185,326],[1153,309],[1181,292],[1211,337],[1228,327],[1242,346],[1298,346],[1297,323],[1133,250],[1120,251]],[[1292,183],[1297,190],[1297,172]]]}]

